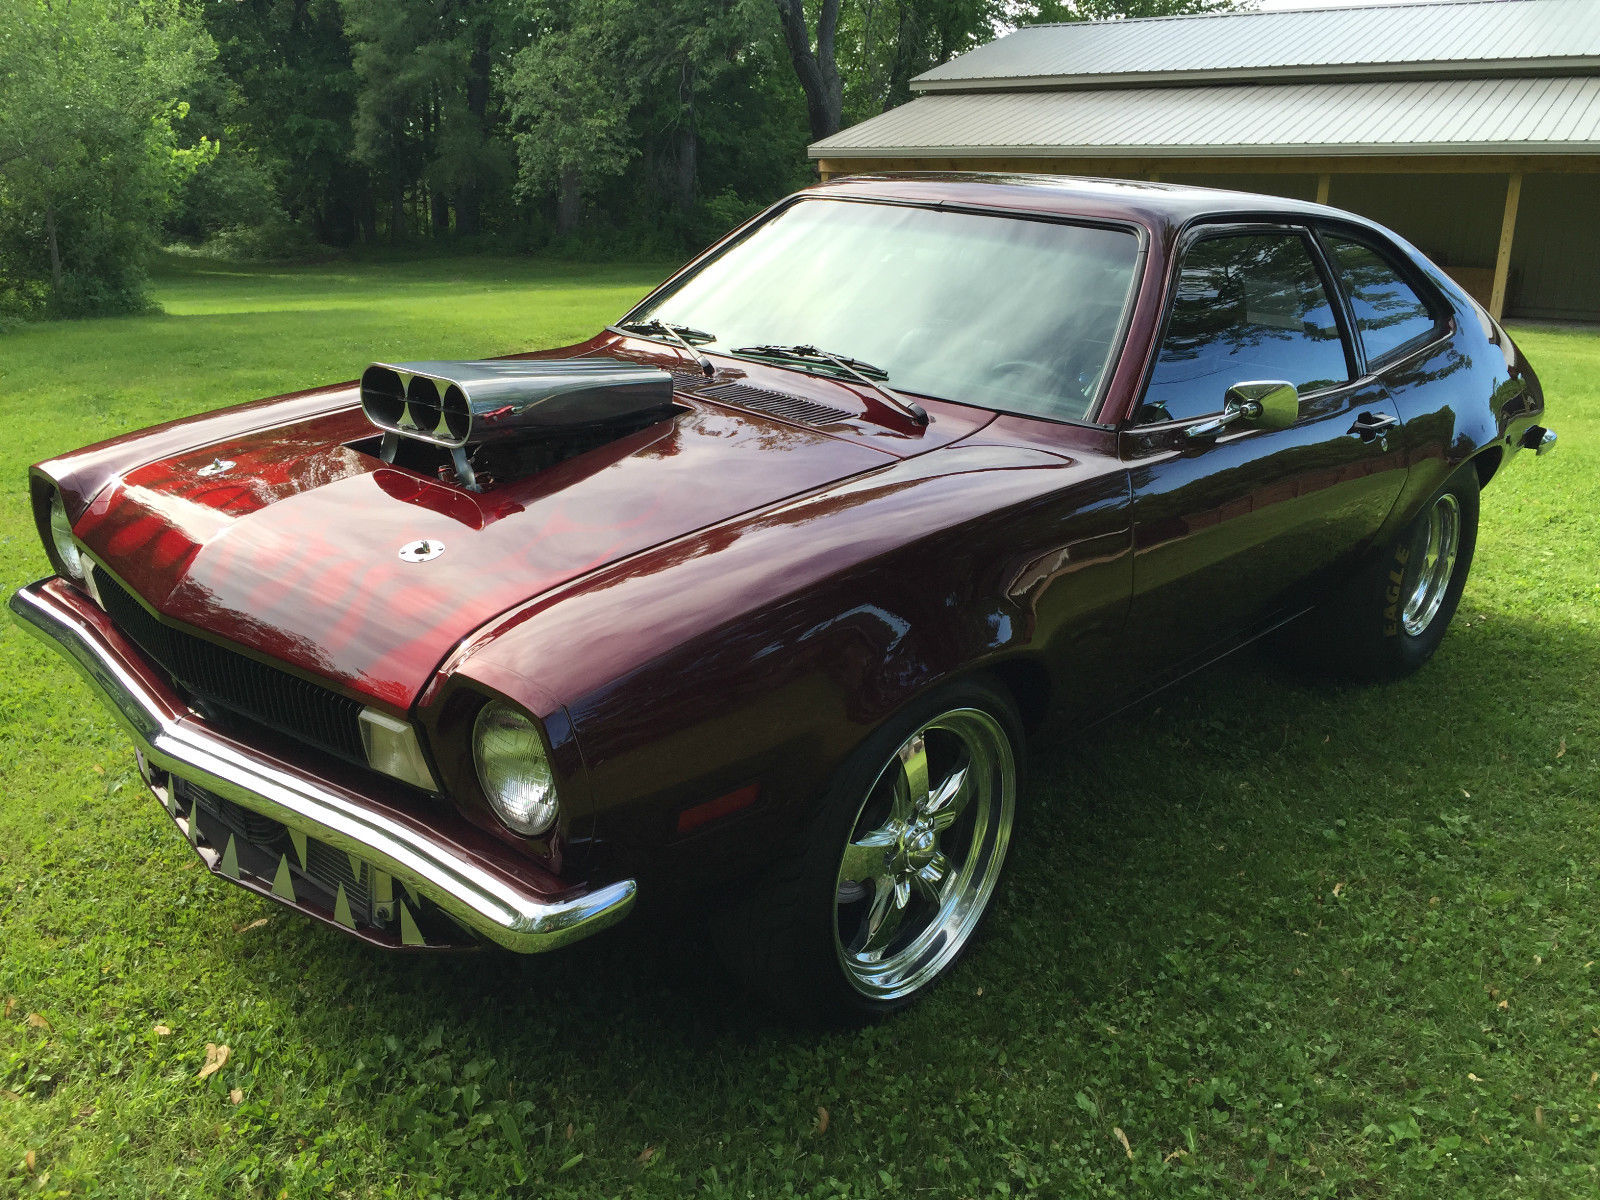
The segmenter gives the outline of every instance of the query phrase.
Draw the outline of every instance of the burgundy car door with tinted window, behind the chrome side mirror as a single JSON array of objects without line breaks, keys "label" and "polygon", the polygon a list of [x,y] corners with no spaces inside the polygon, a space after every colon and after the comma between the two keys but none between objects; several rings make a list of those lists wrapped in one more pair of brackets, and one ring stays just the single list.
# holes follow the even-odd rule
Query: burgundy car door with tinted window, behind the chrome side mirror
[{"label": "burgundy car door with tinted window, behind the chrome side mirror", "polygon": [[[1283,429],[1197,429],[1238,382],[1286,381]],[[1141,405],[1130,638],[1158,677],[1302,606],[1373,539],[1405,480],[1400,414],[1363,378],[1326,261],[1296,226],[1211,226],[1181,248]]]}]

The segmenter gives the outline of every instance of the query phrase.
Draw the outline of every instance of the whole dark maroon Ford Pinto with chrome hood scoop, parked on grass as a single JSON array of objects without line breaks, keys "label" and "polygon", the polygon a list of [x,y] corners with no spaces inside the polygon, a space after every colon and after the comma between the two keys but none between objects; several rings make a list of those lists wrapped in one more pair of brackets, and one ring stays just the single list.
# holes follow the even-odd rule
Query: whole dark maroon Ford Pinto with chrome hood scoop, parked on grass
[{"label": "whole dark maroon Ford Pinto with chrome hood scoop, parked on grass", "polygon": [[970,942],[1046,707],[1307,613],[1328,666],[1421,666],[1542,411],[1349,213],[846,179],[582,346],[40,464],[56,573],[11,608],[262,896],[544,950],[690,893],[749,979],[861,1018]]}]

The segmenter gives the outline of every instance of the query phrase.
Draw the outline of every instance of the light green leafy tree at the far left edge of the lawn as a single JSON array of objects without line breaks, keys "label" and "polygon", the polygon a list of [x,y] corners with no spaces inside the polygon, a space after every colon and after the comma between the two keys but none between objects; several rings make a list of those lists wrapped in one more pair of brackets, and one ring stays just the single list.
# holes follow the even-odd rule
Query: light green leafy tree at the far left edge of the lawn
[{"label": "light green leafy tree at the far left edge of the lawn", "polygon": [[166,205],[216,154],[178,131],[210,56],[178,0],[0,0],[0,314],[146,304]]}]

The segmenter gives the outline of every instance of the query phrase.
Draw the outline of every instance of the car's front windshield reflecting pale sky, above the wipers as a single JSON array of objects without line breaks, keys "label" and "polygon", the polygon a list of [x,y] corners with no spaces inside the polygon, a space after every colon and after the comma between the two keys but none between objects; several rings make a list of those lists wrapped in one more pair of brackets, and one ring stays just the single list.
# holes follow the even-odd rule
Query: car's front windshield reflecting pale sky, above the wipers
[{"label": "car's front windshield reflecting pale sky, above the wipers", "polygon": [[1128,230],[802,200],[629,314],[744,346],[819,346],[898,390],[1082,421],[1133,293]]}]

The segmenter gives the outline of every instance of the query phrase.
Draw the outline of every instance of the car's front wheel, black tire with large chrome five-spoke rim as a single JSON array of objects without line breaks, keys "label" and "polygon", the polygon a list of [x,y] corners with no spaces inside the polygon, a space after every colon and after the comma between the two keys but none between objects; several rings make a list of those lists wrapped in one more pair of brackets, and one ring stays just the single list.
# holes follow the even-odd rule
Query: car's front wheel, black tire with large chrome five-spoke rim
[{"label": "car's front wheel, black tire with large chrome five-spoke rim", "polygon": [[1005,867],[1022,731],[981,682],[930,693],[840,768],[797,854],[717,922],[755,990],[859,1024],[925,995],[971,946]]}]

